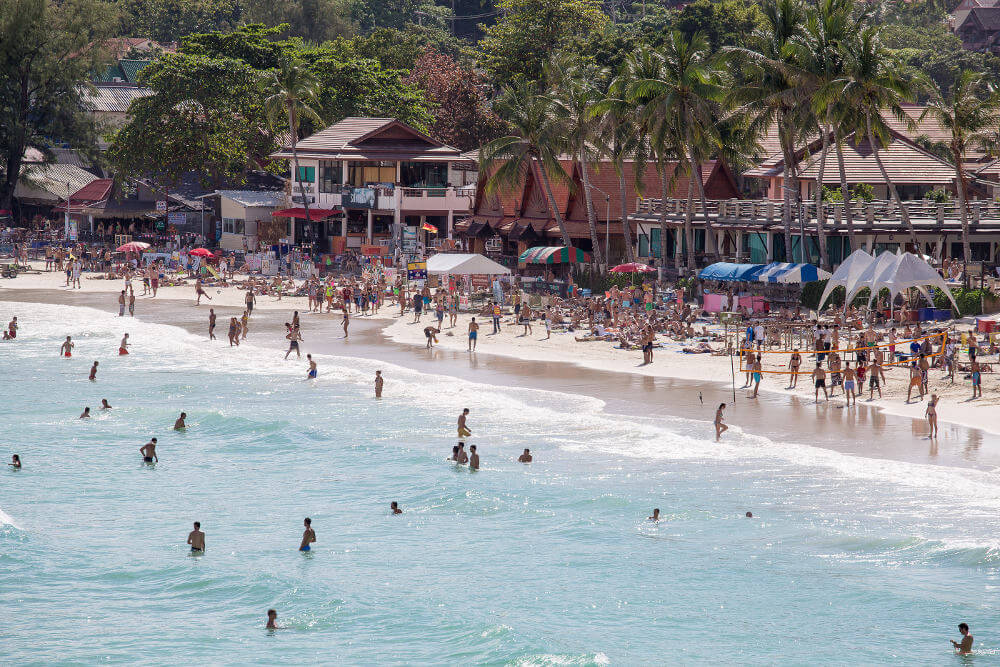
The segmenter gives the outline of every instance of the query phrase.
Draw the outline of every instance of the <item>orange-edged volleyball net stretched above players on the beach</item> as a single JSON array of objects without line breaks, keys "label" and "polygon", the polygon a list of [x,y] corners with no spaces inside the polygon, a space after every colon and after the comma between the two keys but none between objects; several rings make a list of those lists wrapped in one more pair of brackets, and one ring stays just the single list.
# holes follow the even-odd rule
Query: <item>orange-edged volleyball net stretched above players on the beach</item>
[{"label": "orange-edged volleyball net stretched above players on the beach", "polygon": [[906,338],[903,340],[898,340],[895,343],[874,343],[872,345],[851,345],[849,347],[830,349],[830,350],[773,350],[768,349],[767,345],[764,345],[762,349],[758,350],[756,347],[747,347],[744,344],[740,347],[739,358],[740,358],[740,373],[749,373],[754,369],[750,367],[751,355],[753,359],[757,359],[760,356],[760,372],[772,375],[791,375],[795,371],[792,370],[792,355],[798,354],[801,358],[801,363],[799,364],[799,373],[811,373],[812,369],[816,367],[816,362],[820,361],[824,368],[828,368],[830,355],[836,352],[840,356],[841,369],[843,369],[846,362],[851,362],[852,366],[857,366],[860,360],[863,360],[865,365],[871,364],[872,360],[876,357],[879,359],[879,363],[884,367],[892,366],[905,366],[911,361],[920,358],[920,352],[911,351],[911,345],[915,342],[922,349],[924,348],[924,341],[930,342],[930,352],[924,354],[926,359],[931,359],[933,364],[933,359],[940,357],[944,354],[945,346],[948,344],[948,332],[942,331],[940,333],[929,334],[927,336],[920,336],[917,338]]}]

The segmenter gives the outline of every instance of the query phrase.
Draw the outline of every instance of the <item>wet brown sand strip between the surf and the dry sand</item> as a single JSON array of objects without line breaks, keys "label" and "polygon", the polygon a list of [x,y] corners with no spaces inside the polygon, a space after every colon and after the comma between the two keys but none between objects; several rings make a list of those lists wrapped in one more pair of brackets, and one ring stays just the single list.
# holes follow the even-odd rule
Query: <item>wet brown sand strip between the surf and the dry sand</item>
[{"label": "wet brown sand strip between the surf and the dry sand", "polygon": [[[68,290],[4,289],[0,300],[45,302],[88,306],[117,313],[114,295]],[[195,307],[191,300],[137,299],[139,319],[184,327],[207,339],[209,305]],[[219,345],[227,345],[225,321],[238,316],[236,308],[217,307]],[[386,308],[386,312],[395,312]],[[22,326],[30,322],[30,310],[16,313]],[[283,322],[288,310],[258,310],[254,313],[249,342],[284,351]],[[126,321],[128,318],[125,318]],[[994,469],[1000,467],[1000,436],[959,424],[940,422],[936,441],[927,438],[923,420],[896,417],[859,403],[843,407],[842,397],[815,404],[799,396],[761,392],[756,399],[741,389],[736,378],[733,390],[716,382],[692,382],[636,376],[580,368],[563,362],[521,361],[488,352],[465,351],[396,343],[382,335],[389,320],[351,316],[350,338],[342,338],[339,314],[301,314],[303,356],[306,352],[341,357],[375,359],[413,370],[450,375],[498,386],[518,386],[600,398],[612,414],[645,418],[683,417],[705,422],[705,437],[714,435],[712,419],[719,403],[728,404],[726,420],[747,433],[776,442],[798,442],[846,454],[912,463]],[[30,330],[30,325],[26,327]],[[141,342],[136,341],[141,349]],[[208,344],[206,340],[206,344]],[[429,397],[433,400],[433,397]]]}]

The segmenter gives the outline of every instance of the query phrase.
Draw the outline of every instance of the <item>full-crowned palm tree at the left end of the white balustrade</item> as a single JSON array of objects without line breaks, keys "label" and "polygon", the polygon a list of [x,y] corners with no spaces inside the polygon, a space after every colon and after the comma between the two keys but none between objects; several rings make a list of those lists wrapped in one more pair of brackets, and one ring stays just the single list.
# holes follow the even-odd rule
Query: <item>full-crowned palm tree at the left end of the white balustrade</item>
[{"label": "full-crowned palm tree at the left end of the white balustrade", "polygon": [[[681,147],[683,166],[694,181],[695,190],[704,200],[701,180],[701,156],[718,149],[718,106],[723,98],[723,69],[709,52],[708,39],[697,32],[685,36],[674,30],[658,53],[661,76],[633,81],[629,98],[644,104],[646,121],[659,119],[660,132],[671,130]],[[666,137],[666,135],[662,135]],[[691,219],[694,191],[689,188],[685,236],[688,241],[688,270],[695,270],[694,235]],[[665,203],[665,202],[664,202]],[[705,236],[708,251],[718,257],[715,231],[705,211]]]}]

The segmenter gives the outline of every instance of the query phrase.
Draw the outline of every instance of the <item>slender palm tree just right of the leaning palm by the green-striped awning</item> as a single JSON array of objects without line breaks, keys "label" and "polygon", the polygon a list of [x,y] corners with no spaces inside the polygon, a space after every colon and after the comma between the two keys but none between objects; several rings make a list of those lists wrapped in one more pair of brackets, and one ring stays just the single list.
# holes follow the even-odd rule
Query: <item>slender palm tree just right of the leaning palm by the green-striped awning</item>
[{"label": "slender palm tree just right of the leaning palm by the green-striped awning", "polygon": [[597,235],[597,214],[594,211],[593,192],[590,187],[590,156],[595,153],[596,128],[591,108],[600,99],[593,81],[595,72],[585,72],[579,67],[565,67],[563,62],[552,62],[546,68],[546,78],[553,84],[552,111],[563,128],[563,139],[576,155],[583,180],[583,199],[587,209],[590,241],[597,264],[604,264],[604,250]]}]

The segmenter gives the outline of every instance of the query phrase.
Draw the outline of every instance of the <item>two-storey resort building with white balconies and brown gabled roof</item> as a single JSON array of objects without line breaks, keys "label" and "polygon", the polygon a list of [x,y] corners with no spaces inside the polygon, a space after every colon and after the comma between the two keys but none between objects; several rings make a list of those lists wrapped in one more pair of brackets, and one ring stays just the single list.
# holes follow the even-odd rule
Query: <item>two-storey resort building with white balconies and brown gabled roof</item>
[{"label": "two-storey resort building with white balconies and brown gabled roof", "polygon": [[[345,118],[271,155],[287,160],[292,187],[276,217],[293,221],[288,241],[323,252],[362,249],[388,254],[394,243],[451,238],[472,212],[477,181],[473,154],[462,153],[393,118]],[[309,205],[306,219],[302,189]]]}]

